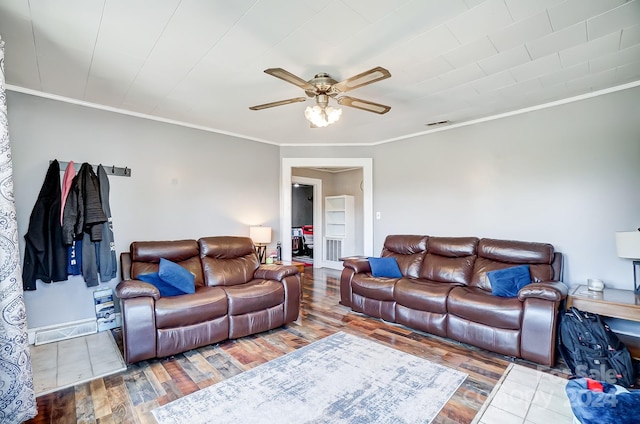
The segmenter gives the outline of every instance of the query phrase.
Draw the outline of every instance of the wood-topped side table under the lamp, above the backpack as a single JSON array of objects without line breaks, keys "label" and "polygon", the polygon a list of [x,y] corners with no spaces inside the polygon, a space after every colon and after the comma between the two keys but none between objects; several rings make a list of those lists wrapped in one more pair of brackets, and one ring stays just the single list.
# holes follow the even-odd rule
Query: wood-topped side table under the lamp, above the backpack
[{"label": "wood-topped side table under the lamp, above the backpack", "polygon": [[[567,308],[640,322],[640,295],[633,290],[607,289],[589,291],[586,285],[574,286],[567,296]],[[640,337],[616,333],[634,358],[640,358]]]}]

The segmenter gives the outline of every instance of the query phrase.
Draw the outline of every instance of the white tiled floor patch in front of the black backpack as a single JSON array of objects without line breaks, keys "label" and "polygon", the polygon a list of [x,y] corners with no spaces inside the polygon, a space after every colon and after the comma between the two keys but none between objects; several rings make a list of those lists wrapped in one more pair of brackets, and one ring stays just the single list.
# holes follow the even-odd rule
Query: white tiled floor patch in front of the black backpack
[{"label": "white tiled floor patch in front of the black backpack", "polygon": [[571,424],[565,378],[510,364],[474,423]]}]

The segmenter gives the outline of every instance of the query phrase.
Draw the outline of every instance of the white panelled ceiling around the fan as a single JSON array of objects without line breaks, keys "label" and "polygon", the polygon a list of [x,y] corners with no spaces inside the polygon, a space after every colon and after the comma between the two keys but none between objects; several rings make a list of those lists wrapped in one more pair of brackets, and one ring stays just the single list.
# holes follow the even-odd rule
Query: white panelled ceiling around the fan
[{"label": "white panelled ceiling around the fan", "polygon": [[[640,80],[640,0],[11,0],[9,89],[279,145],[371,144]],[[311,129],[304,96],[263,73],[340,81],[391,106]],[[335,104],[334,104],[335,106]]]}]

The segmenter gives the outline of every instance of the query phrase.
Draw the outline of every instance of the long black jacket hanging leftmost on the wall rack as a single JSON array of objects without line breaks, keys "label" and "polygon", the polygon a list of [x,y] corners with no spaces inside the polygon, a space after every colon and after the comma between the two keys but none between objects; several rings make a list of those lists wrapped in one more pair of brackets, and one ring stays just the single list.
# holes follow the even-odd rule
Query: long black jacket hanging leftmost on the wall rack
[{"label": "long black jacket hanging leftmost on the wall rack", "polygon": [[24,236],[24,290],[35,290],[37,279],[45,283],[67,279],[67,249],[62,243],[60,226],[61,196],[60,164],[54,160],[47,170]]}]

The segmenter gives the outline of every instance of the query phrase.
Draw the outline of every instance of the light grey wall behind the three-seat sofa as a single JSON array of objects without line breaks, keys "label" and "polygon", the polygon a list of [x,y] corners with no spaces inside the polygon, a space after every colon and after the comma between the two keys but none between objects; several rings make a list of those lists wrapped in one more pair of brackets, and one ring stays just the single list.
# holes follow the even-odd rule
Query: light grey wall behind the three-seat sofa
[{"label": "light grey wall behind the three-seat sofa", "polygon": [[640,227],[640,89],[380,145],[374,249],[388,234],[552,243],[564,281],[633,288],[615,231]]}]

